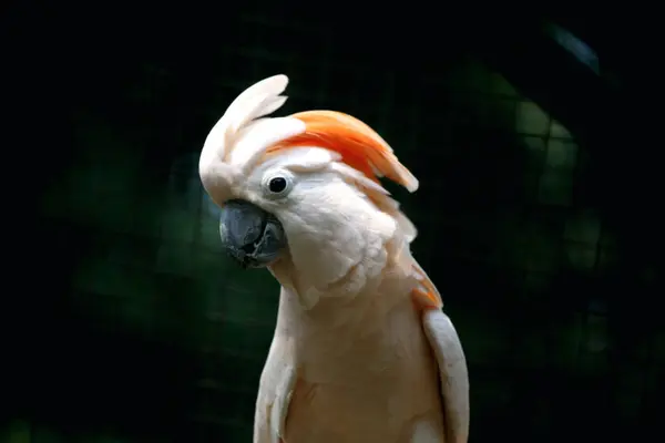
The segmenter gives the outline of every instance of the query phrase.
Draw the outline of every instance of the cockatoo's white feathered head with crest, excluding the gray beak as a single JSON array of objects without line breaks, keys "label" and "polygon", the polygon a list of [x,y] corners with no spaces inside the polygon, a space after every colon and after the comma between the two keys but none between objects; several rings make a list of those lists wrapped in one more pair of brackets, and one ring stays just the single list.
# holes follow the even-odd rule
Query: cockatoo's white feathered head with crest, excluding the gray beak
[{"label": "cockatoo's white feathered head with crest, excluding the gray beak", "polygon": [[[265,119],[285,103],[286,96],[280,94],[287,83],[286,75],[275,75],[254,84],[233,101],[203,146],[198,164],[203,186],[219,206],[231,198],[244,198],[282,222],[289,244],[289,260],[296,271],[293,275],[300,276],[301,289],[328,287],[349,278],[349,272],[361,285],[382,269],[383,245],[396,233],[410,243],[416,228],[367,172],[344,163],[342,153],[326,145],[329,141],[309,133],[307,119],[313,114],[315,119],[339,119],[337,127],[357,131],[368,143],[339,148],[357,148],[356,155],[368,155],[367,166],[377,175],[386,174],[410,192],[417,189],[418,181],[378,134],[346,114],[313,111]],[[264,156],[269,147],[305,133],[310,135],[305,145]],[[346,144],[346,140],[340,143]],[[288,176],[293,182],[290,194],[284,198],[266,194],[266,179],[275,174]]]}]

